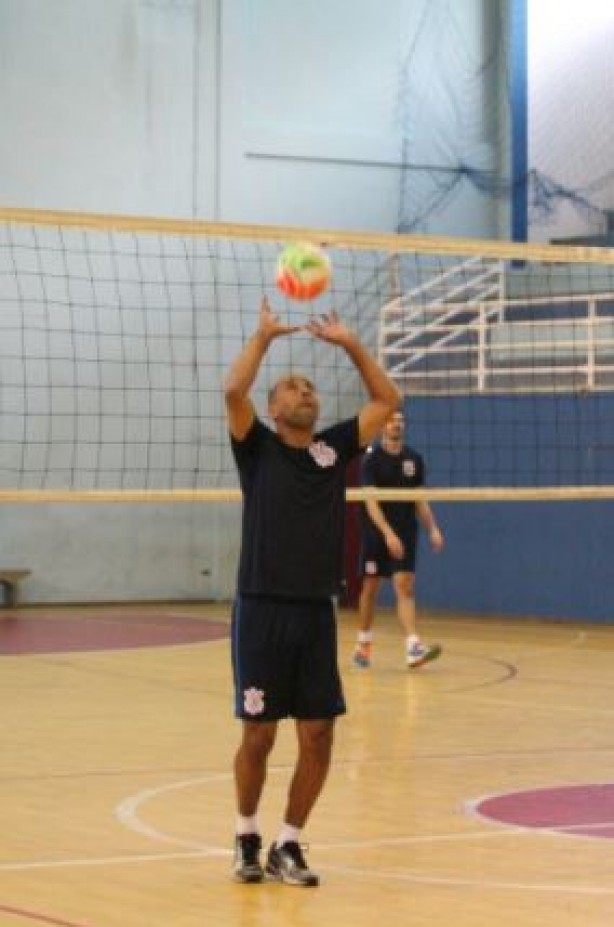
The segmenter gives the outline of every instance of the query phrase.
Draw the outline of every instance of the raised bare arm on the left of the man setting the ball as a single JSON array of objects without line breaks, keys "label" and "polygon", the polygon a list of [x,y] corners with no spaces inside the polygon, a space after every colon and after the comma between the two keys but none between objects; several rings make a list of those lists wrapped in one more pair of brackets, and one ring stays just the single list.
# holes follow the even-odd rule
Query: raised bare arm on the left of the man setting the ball
[{"label": "raised bare arm on the left of the man setting the ball", "polygon": [[224,380],[224,399],[228,427],[233,438],[241,441],[251,428],[256,410],[249,393],[260,364],[274,338],[298,330],[296,325],[282,325],[271,312],[266,296],[260,304],[258,328],[230,366]]}]

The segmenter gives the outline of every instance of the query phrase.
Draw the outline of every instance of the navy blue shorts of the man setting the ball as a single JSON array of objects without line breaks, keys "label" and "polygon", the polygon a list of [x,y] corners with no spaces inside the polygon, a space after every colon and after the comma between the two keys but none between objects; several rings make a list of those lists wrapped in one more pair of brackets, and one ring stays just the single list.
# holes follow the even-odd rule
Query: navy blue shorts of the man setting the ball
[{"label": "navy blue shorts of the man setting the ball", "polygon": [[345,712],[331,601],[239,596],[232,668],[237,718],[322,720]]}]

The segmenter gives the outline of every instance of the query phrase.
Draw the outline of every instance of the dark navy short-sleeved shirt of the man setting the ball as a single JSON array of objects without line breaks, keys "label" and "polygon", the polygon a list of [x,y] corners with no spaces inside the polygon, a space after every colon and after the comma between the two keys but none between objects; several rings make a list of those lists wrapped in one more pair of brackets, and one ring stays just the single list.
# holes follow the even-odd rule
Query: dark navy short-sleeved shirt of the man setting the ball
[{"label": "dark navy short-sleeved shirt of the man setting the ball", "polygon": [[323,599],[343,577],[345,469],[360,452],[358,419],[289,447],[259,419],[231,438],[243,490],[238,591]]}]

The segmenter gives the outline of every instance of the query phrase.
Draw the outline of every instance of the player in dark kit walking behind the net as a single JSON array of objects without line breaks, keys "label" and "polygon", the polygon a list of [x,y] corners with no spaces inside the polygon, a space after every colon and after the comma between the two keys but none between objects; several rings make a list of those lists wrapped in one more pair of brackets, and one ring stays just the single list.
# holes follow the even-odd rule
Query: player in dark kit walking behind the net
[{"label": "player in dark kit walking behind the net", "polygon": [[[405,444],[403,413],[395,411],[382,430],[381,441],[369,448],[362,464],[362,484],[380,489],[414,489],[424,483],[424,461]],[[439,552],[444,539],[428,502],[376,502],[368,500],[362,514],[358,603],[358,638],[355,666],[371,665],[375,604],[382,579],[392,579],[397,615],[405,635],[405,661],[422,666],[441,653],[439,644],[424,644],[416,627],[416,545],[418,525],[428,533]]]}]

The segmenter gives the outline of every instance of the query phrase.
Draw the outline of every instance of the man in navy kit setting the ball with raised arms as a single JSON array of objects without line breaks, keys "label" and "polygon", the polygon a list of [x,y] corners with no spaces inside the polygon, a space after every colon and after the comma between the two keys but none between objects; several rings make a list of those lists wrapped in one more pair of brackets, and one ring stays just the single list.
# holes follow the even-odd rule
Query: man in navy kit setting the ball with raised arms
[{"label": "man in navy kit setting the ball with raised arms", "polygon": [[[242,739],[234,770],[238,804],[234,874],[318,884],[299,838],[326,780],[335,718],[345,712],[337,665],[333,597],[342,579],[345,469],[398,407],[400,397],[369,352],[331,312],[303,330],[343,348],[369,394],[358,415],[316,432],[318,394],[288,375],[269,394],[274,431],[256,414],[250,390],[284,325],[266,299],[256,332],[226,377],[232,450],[243,491],[238,589],[232,617],[235,714]],[[296,722],[298,756],[283,824],[260,862],[257,811],[278,723]]]}]

